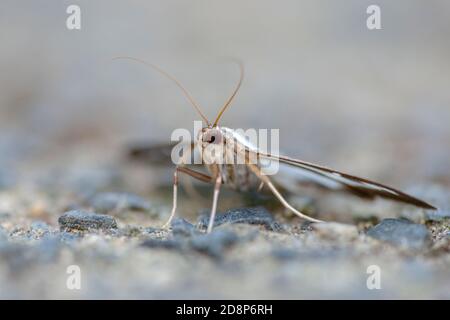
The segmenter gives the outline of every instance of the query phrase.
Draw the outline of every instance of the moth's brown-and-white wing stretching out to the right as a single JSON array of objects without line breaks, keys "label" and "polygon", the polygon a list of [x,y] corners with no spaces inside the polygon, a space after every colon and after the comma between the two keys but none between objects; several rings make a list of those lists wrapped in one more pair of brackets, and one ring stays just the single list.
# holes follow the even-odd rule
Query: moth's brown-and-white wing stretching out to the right
[{"label": "moth's brown-and-white wing stretching out to the right", "polygon": [[273,156],[262,153],[260,153],[259,156],[275,161],[278,160],[280,163],[285,163],[301,169],[300,174],[303,173],[309,180],[316,180],[318,184],[326,187],[329,186],[331,189],[335,189],[333,186],[340,186],[340,189],[362,198],[373,199],[380,196],[403,203],[413,204],[420,208],[436,210],[434,206],[425,201],[375,181],[285,156]]}]

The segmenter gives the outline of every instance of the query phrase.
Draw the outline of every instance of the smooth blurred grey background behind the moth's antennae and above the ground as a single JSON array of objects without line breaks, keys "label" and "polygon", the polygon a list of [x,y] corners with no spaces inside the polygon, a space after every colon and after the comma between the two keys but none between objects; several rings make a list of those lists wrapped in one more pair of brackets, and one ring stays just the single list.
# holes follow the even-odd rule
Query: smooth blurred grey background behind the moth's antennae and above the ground
[{"label": "smooth blurred grey background behind the moth's antennae and above the ground", "polygon": [[[366,8],[381,7],[382,30]],[[81,30],[66,8],[81,7]],[[0,10],[0,161],[102,161],[198,119],[180,90],[116,56],[160,65],[213,118],[280,128],[291,156],[403,184],[450,171],[446,1],[9,1]],[[31,163],[31,165],[30,165]],[[20,167],[19,167],[20,168]],[[39,168],[39,166],[38,166]],[[20,169],[18,171],[21,171]],[[446,180],[448,182],[448,180]]]}]

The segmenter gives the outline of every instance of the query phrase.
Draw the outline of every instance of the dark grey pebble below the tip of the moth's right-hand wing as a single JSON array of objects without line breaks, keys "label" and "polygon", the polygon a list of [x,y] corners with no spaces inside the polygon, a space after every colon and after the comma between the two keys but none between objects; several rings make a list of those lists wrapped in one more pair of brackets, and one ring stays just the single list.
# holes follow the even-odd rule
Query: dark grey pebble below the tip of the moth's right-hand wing
[{"label": "dark grey pebble below the tip of the moth's right-hand wing", "polygon": [[410,249],[421,249],[430,243],[430,233],[424,225],[405,219],[384,219],[369,229],[367,235]]}]

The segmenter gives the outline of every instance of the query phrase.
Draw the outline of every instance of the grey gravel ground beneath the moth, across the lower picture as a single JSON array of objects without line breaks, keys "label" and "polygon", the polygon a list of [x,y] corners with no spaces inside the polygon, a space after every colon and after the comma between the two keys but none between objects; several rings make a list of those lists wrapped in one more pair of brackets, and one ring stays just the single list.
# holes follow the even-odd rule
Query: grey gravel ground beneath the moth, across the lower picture
[{"label": "grey gravel ground beneath the moth, across the lower picture", "polygon": [[[314,209],[324,220],[348,224],[310,224],[262,199],[264,207],[255,201],[255,207],[219,212],[212,233],[206,234],[209,210],[200,218],[196,213],[209,207],[209,198],[200,203],[181,192],[176,218],[162,229],[171,188],[127,193],[147,194],[142,200],[151,206],[165,203],[157,215],[130,205],[104,206],[108,214],[103,214],[72,191],[39,197],[29,190],[0,194],[7,204],[0,219],[1,298],[449,297],[448,219],[417,224],[379,217],[379,224],[366,219],[354,225],[354,213],[362,210],[358,207],[343,217]],[[105,194],[123,195],[96,193]],[[221,207],[233,208],[239,199],[233,195],[227,203],[227,197],[224,192]],[[65,212],[69,205],[77,209]],[[388,204],[381,209],[391,212]],[[80,291],[66,287],[71,265],[81,269]],[[381,291],[366,287],[371,265],[381,269]]]}]

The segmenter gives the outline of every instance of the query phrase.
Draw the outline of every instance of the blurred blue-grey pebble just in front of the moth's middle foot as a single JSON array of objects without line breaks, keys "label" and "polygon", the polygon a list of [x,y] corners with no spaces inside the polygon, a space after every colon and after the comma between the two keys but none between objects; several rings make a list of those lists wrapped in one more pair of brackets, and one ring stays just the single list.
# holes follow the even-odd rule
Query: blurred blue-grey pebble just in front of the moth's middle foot
[{"label": "blurred blue-grey pebble just in front of the moth's middle foot", "polygon": [[221,258],[225,250],[239,241],[238,236],[228,230],[216,230],[209,234],[195,235],[190,239],[191,248],[214,258]]}]

